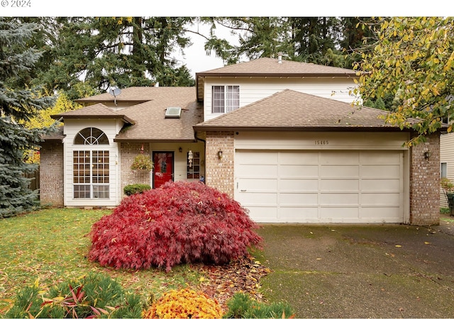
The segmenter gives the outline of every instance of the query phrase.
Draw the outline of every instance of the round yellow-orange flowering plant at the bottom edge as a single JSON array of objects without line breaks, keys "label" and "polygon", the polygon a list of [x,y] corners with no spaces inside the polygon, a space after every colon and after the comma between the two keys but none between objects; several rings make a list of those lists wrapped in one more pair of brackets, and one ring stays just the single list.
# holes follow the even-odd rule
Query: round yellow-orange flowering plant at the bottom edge
[{"label": "round yellow-orange flowering plant at the bottom edge", "polygon": [[144,310],[142,318],[222,318],[218,301],[192,289],[171,290]]}]

